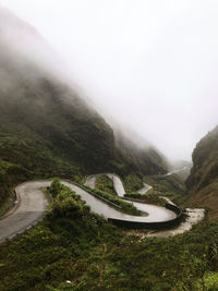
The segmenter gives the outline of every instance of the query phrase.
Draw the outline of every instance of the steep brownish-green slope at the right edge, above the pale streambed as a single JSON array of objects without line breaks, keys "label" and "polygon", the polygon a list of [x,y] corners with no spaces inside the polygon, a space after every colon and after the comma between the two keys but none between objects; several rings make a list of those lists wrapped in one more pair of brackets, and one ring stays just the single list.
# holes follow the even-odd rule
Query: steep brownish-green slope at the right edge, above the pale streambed
[{"label": "steep brownish-green slope at the right edge, above the pale streambed", "polygon": [[199,141],[193,151],[193,168],[186,180],[190,203],[204,206],[218,217],[218,126]]}]

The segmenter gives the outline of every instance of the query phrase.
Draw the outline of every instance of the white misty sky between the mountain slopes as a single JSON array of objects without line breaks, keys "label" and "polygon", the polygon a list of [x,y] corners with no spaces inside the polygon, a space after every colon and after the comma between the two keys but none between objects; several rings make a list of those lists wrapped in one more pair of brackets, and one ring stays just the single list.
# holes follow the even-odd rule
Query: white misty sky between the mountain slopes
[{"label": "white misty sky between the mountain slopes", "polygon": [[0,0],[33,24],[106,117],[190,159],[218,124],[218,1]]}]

